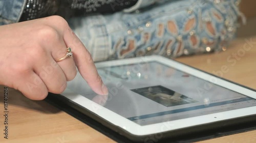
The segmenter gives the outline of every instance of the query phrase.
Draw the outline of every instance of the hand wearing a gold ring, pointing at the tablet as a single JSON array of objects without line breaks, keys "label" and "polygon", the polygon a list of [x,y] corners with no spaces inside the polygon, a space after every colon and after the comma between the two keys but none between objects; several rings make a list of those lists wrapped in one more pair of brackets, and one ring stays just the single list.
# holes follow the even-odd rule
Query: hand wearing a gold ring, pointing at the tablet
[{"label": "hand wearing a gold ring, pointing at the tablet", "polygon": [[[94,92],[107,95],[93,59],[67,21],[59,16],[0,26],[0,84],[33,100],[60,94],[77,70]],[[55,60],[71,47],[73,58]]]}]

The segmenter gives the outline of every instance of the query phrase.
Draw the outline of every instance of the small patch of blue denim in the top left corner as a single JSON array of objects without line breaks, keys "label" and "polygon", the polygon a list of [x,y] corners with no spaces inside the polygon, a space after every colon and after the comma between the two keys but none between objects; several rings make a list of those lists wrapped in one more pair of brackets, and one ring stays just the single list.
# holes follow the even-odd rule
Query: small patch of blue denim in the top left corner
[{"label": "small patch of blue denim in the top left corner", "polygon": [[18,22],[25,0],[0,0],[0,25]]}]

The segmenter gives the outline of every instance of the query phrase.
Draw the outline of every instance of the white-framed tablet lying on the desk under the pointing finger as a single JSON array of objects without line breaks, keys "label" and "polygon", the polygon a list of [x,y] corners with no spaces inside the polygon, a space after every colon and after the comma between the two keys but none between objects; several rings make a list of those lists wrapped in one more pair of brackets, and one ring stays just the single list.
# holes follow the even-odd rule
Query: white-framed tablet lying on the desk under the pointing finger
[{"label": "white-framed tablet lying on the desk under the pointing finger", "polygon": [[[158,55],[96,63],[109,95],[97,95],[79,72],[61,96],[130,139],[256,114],[256,93]],[[154,142],[154,141],[153,141]]]}]

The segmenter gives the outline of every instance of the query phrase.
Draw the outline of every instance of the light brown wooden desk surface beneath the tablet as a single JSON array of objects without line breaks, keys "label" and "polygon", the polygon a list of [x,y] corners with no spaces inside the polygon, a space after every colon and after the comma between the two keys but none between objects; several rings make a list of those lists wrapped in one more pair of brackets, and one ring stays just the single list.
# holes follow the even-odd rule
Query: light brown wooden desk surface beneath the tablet
[{"label": "light brown wooden desk surface beneath the tablet", "polygon": [[[249,40],[249,38],[247,38]],[[252,38],[256,41],[256,37]],[[236,64],[227,61],[232,53],[241,52],[245,38],[232,42],[231,48],[219,54],[205,54],[177,59],[210,73],[221,71],[227,66],[223,77],[256,89],[256,43],[245,55],[239,56]],[[248,45],[246,46],[248,47]],[[4,88],[0,88],[0,142],[8,143],[78,143],[78,142],[114,142],[86,124],[81,123],[67,113],[56,109],[44,101],[31,101],[19,92],[9,88],[8,98],[8,138],[4,138]],[[256,142],[256,131],[240,133],[201,142]]]}]

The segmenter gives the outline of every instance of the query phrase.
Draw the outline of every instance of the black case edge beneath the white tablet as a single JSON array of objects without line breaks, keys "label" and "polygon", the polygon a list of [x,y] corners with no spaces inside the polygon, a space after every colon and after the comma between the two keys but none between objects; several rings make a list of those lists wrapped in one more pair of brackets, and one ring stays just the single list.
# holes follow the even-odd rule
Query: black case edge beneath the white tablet
[{"label": "black case edge beneath the white tablet", "polygon": [[[95,119],[90,118],[89,116],[85,115],[84,113],[79,112],[72,106],[68,105],[67,102],[63,102],[63,100],[66,100],[62,98],[62,96],[55,95],[55,94],[49,94],[46,98],[46,101],[50,104],[54,105],[55,107],[59,108],[60,110],[63,110],[69,115],[73,116],[74,118],[80,120],[81,122],[91,126],[95,130],[101,132],[102,134],[112,138],[113,140],[117,142],[137,142],[132,141],[129,138],[126,138],[119,133],[113,131],[112,129],[102,125],[101,123],[97,122]],[[227,124],[228,123],[228,124]],[[218,128],[215,129],[209,129],[207,131],[201,130],[201,128],[198,128],[198,132],[196,133],[186,133],[184,132],[184,135],[182,133],[179,136],[172,137],[172,138],[165,138],[163,140],[160,139],[154,139],[147,142],[196,142],[216,137],[221,137],[225,135],[231,135],[246,131],[251,131],[256,129],[256,115],[250,116],[246,118],[240,118],[240,119],[234,119],[229,120],[228,122],[222,122],[215,124],[214,126],[218,126]],[[209,127],[210,128],[210,127]],[[145,141],[144,141],[145,142]]]}]

